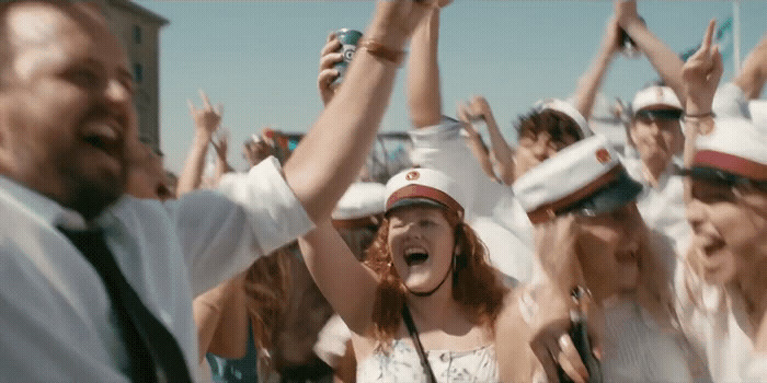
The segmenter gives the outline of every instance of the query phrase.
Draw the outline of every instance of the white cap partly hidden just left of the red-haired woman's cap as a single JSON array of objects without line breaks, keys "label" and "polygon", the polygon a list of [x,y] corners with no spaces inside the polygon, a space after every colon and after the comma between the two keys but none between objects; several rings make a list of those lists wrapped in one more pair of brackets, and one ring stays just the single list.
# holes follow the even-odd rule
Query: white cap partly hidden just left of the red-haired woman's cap
[{"label": "white cap partly hidden just left of the red-haired woman's cap", "polygon": [[380,223],[386,186],[358,182],[350,185],[331,214],[335,228],[357,229]]}]

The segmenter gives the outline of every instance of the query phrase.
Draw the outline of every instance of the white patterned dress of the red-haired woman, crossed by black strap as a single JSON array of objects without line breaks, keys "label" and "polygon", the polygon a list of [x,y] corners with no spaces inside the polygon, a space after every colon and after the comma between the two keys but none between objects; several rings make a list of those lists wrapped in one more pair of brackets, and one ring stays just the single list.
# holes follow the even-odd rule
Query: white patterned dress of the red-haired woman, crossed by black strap
[{"label": "white patterned dress of the red-haired woman, crossed by black strap", "polygon": [[[466,351],[427,350],[426,357],[439,383],[499,382],[493,346]],[[415,348],[398,339],[389,350],[379,349],[357,364],[357,382],[419,383],[426,382],[426,374]]]}]

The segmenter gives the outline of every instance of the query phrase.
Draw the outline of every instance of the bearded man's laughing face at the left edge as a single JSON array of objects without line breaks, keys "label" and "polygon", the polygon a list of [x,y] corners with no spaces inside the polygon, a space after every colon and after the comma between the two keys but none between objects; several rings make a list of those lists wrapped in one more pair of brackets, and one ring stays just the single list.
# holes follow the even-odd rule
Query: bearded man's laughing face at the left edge
[{"label": "bearded man's laughing face at the left edge", "polygon": [[137,127],[127,58],[82,4],[20,3],[0,88],[0,173],[95,217],[124,192]]}]

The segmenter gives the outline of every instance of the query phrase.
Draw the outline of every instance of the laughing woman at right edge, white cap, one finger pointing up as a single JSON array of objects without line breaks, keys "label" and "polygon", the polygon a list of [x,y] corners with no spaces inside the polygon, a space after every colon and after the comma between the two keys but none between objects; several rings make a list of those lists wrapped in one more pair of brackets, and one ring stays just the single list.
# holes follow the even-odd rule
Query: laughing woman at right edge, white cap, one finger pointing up
[{"label": "laughing woman at right edge, white cap, one finger pointing up", "polygon": [[767,381],[767,130],[717,117],[723,72],[714,22],[684,67],[684,174],[694,231],[676,274],[683,328],[705,350],[717,382]]}]

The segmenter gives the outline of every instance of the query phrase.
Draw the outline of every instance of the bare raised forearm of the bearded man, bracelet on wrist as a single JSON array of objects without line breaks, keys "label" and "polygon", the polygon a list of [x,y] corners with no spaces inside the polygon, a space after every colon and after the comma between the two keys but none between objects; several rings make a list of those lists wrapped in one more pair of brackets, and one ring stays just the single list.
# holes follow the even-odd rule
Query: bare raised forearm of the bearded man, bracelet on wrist
[{"label": "bare raised forearm of the bearded man, bracelet on wrist", "polygon": [[389,103],[402,47],[432,1],[377,2],[343,85],[283,167],[314,222],[330,217],[363,166]]}]

